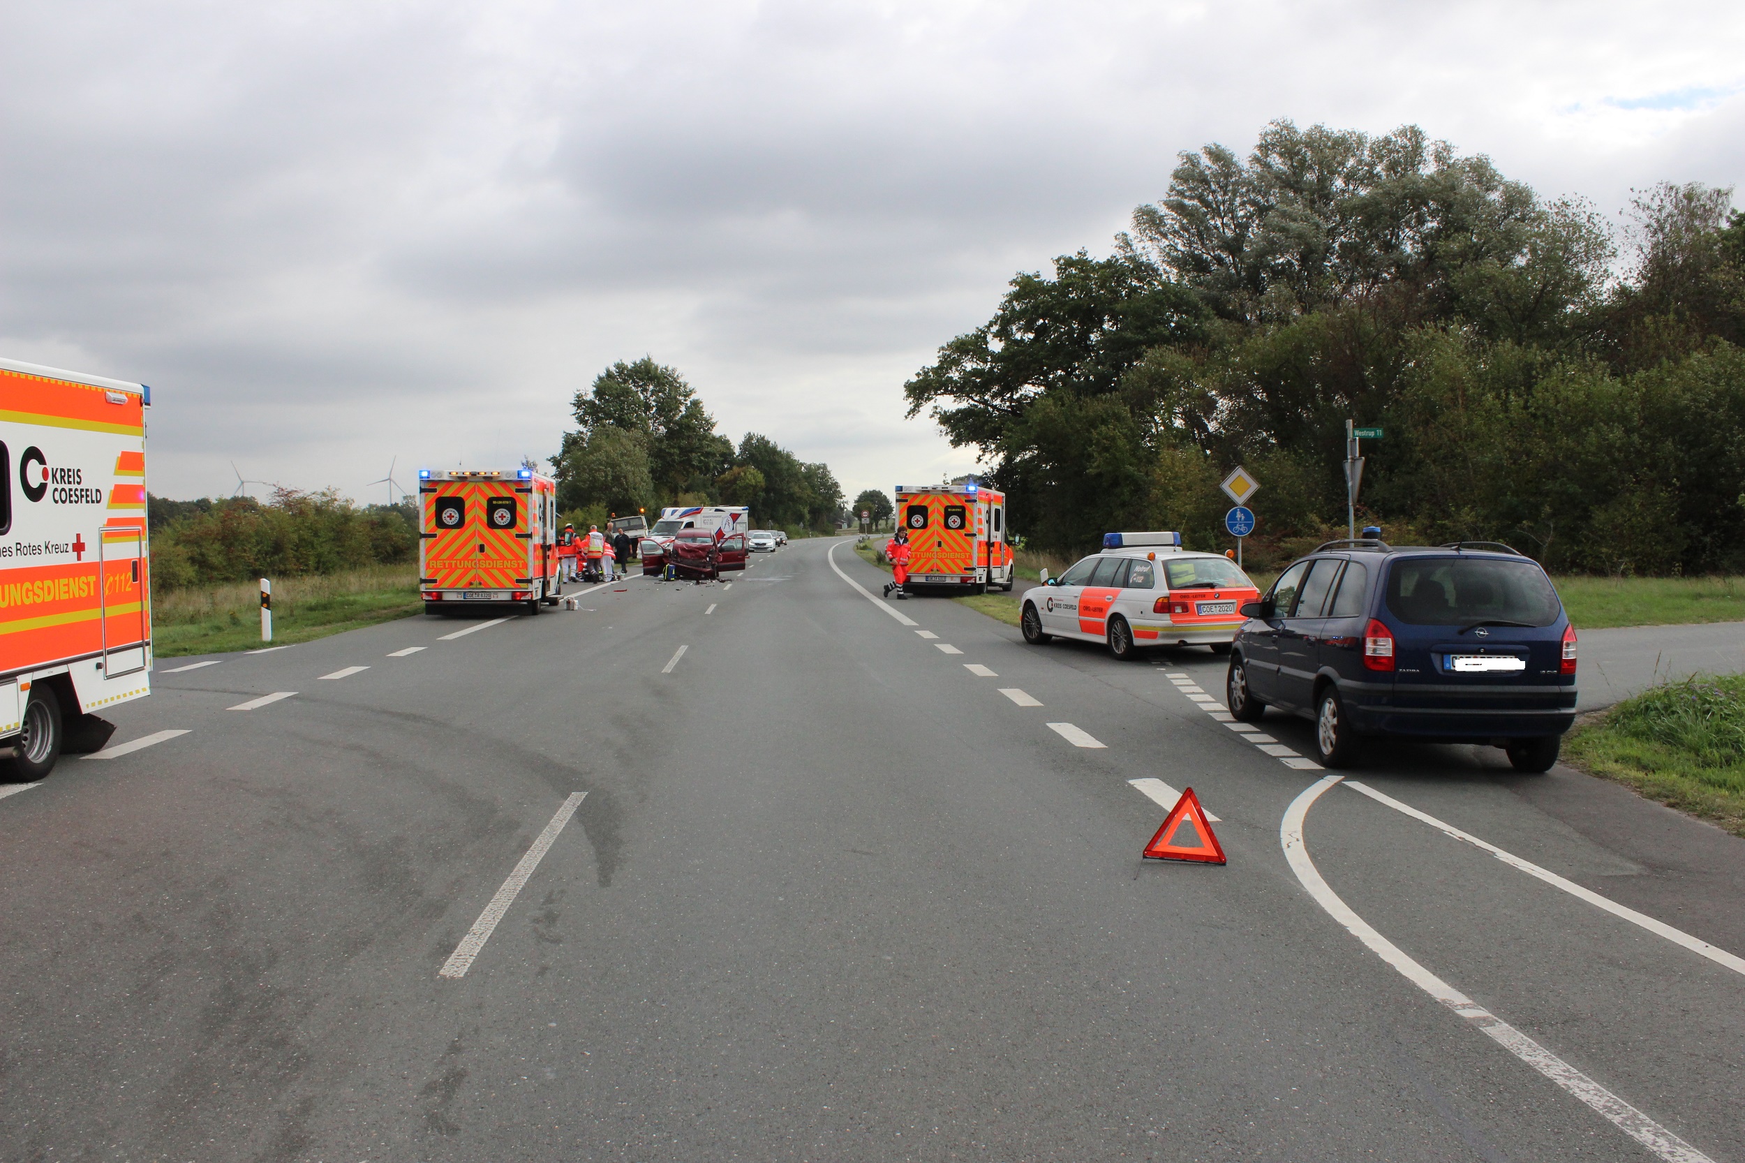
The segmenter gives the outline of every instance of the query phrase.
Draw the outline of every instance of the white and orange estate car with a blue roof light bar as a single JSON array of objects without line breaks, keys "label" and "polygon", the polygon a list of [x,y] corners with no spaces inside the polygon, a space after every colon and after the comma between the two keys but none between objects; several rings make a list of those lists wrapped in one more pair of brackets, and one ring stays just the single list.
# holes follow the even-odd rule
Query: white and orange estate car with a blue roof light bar
[{"label": "white and orange estate car with a blue roof light bar", "polygon": [[1019,627],[1031,646],[1059,634],[1106,643],[1117,658],[1146,646],[1225,653],[1256,597],[1234,561],[1183,550],[1180,533],[1108,533],[1101,554],[1024,594]]}]

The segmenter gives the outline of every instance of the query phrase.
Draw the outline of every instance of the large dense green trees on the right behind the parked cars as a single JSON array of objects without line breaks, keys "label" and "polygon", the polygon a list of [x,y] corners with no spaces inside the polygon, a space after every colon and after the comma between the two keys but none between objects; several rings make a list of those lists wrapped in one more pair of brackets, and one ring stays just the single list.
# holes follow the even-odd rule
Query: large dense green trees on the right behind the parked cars
[{"label": "large dense green trees on the right behind the parked cars", "polygon": [[1482,155],[1279,120],[1180,155],[1106,258],[1019,272],[907,384],[993,465],[1016,531],[1225,548],[1218,482],[1260,482],[1260,562],[1361,520],[1508,541],[1548,568],[1745,568],[1745,215],[1661,183],[1612,231]]}]

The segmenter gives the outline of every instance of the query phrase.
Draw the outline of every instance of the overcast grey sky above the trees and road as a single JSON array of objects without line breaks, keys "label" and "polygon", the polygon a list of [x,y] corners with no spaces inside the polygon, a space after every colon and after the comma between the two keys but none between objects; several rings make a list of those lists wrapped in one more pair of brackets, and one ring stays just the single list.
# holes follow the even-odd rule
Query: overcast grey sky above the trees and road
[{"label": "overcast grey sky above the trees and road", "polygon": [[[1729,3],[9,3],[0,354],[152,384],[150,487],[550,456],[612,360],[862,487],[902,382],[1270,119],[1616,218],[1745,187]],[[1745,203],[1745,189],[1740,201]]]}]

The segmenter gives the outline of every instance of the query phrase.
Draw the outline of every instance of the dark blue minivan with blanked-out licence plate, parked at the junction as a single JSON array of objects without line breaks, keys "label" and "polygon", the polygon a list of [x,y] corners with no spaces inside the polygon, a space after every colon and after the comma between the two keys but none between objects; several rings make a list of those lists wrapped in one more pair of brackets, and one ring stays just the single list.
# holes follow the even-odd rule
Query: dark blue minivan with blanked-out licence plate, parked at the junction
[{"label": "dark blue minivan with blanked-out licence plate, parked at the junction", "polygon": [[1326,767],[1365,735],[1403,735],[1544,772],[1576,721],[1576,630],[1539,562],[1508,545],[1328,541],[1241,613],[1230,714],[1312,719]]}]

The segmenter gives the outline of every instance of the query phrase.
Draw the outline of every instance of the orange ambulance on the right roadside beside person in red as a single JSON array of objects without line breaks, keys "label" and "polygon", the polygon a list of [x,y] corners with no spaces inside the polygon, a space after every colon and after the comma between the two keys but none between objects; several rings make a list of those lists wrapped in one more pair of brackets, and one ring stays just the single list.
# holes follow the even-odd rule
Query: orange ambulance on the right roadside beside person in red
[{"label": "orange ambulance on the right roadside beside person in red", "polygon": [[975,480],[897,485],[897,520],[909,534],[909,588],[951,585],[968,594],[1012,588],[1003,492]]}]

